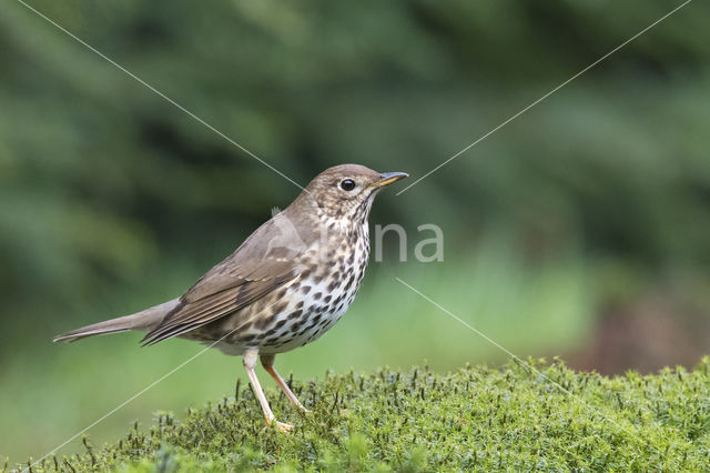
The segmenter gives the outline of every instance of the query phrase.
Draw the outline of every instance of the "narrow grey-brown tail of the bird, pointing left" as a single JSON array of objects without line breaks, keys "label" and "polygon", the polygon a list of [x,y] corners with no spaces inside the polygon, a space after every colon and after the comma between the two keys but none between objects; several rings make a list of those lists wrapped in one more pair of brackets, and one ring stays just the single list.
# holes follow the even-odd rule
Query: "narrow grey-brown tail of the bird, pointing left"
[{"label": "narrow grey-brown tail of the bird, pointing left", "polygon": [[159,324],[170,311],[180,304],[179,299],[173,299],[160,305],[155,305],[144,311],[118,319],[106,320],[92,325],[82,326],[71,332],[54,336],[53,342],[75,342],[93,335],[104,335],[106,333],[128,332],[129,330],[150,330]]}]

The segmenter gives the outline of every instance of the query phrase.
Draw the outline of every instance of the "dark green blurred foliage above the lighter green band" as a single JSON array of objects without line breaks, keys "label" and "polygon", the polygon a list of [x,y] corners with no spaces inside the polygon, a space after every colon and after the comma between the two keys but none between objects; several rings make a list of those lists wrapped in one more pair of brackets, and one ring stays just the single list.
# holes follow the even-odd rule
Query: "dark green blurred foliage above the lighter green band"
[{"label": "dark green blurred foliage above the lighter green band", "polygon": [[[341,162],[416,178],[676,3],[32,4],[305,184]],[[706,13],[688,6],[377,215],[444,223],[453,252],[503,221],[532,253],[580,236],[630,264],[707,264]],[[95,296],[169,253],[210,264],[296,194],[21,4],[0,26],[6,310]]]}]

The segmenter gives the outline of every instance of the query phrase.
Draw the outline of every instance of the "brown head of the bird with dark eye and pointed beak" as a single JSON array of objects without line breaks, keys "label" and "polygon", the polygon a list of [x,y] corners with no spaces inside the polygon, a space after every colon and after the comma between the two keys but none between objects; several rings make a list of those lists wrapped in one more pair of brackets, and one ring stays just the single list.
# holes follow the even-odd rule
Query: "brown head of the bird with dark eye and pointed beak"
[{"label": "brown head of the bird with dark eye and pointed beak", "polygon": [[377,172],[359,164],[341,164],[316,175],[298,200],[317,207],[333,219],[367,219],[377,192],[408,177],[405,172]]}]

